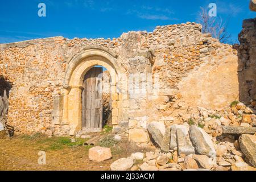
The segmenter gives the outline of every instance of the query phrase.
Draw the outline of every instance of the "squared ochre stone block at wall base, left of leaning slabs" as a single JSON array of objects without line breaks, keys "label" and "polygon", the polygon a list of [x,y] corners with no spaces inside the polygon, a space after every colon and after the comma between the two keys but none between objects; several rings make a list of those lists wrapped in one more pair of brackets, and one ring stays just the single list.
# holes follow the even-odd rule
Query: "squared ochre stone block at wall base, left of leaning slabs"
[{"label": "squared ochre stone block at wall base, left of leaning slabs", "polygon": [[143,129],[130,129],[129,140],[135,143],[148,143],[148,134]]}]

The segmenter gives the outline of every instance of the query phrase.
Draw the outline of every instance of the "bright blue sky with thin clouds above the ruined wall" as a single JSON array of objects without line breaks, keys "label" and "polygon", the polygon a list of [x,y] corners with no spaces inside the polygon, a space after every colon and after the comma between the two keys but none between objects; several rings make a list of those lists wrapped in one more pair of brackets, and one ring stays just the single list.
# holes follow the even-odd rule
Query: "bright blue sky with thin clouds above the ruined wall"
[{"label": "bright blue sky with thin clouds above the ruined wall", "polygon": [[[38,4],[46,4],[46,17]],[[0,43],[35,38],[118,38],[123,32],[153,31],[158,25],[198,22],[200,7],[216,3],[217,15],[229,19],[234,42],[242,20],[255,18],[249,0],[0,0]]]}]

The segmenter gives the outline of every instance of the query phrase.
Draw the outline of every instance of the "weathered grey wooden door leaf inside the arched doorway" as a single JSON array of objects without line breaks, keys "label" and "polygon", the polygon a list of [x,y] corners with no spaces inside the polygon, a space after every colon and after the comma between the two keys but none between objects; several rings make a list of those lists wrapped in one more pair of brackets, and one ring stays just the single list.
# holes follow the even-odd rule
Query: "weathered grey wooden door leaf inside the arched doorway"
[{"label": "weathered grey wooden door leaf inside the arched doorway", "polygon": [[93,67],[84,77],[82,92],[82,130],[102,130],[102,68]]}]

